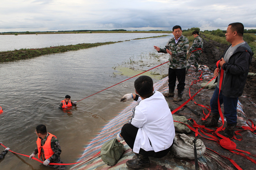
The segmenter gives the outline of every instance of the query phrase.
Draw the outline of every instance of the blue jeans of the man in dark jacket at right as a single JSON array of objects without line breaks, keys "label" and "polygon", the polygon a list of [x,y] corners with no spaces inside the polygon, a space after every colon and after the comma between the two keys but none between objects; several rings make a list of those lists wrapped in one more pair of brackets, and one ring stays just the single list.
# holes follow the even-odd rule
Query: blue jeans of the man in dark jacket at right
[{"label": "blue jeans of the man in dark jacket at right", "polygon": [[[219,88],[216,86],[215,91],[212,95],[212,99],[210,102],[211,110],[213,114],[219,115],[218,110],[218,96],[219,96]],[[237,101],[238,97],[226,97],[222,95],[222,92],[220,91],[220,107],[223,103],[224,105],[224,116],[226,117],[226,120],[229,124],[235,124],[236,123],[236,107],[237,107]]]}]

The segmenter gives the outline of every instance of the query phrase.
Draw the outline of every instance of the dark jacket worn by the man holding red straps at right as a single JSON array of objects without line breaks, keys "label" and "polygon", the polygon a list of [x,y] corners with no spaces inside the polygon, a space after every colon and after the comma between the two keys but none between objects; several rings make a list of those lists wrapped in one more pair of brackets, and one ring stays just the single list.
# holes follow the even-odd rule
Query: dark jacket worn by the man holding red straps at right
[{"label": "dark jacket worn by the man holding red straps at right", "polygon": [[[228,48],[230,46],[228,46]],[[224,58],[227,49],[221,57]],[[222,68],[226,73],[224,85],[221,87],[224,96],[239,97],[242,95],[249,67],[252,62],[252,55],[252,49],[248,43],[245,42],[245,44],[238,47],[233,55],[231,55],[228,63],[222,65]],[[215,68],[217,67],[215,66]],[[218,78],[216,78],[216,81],[217,79]]]}]

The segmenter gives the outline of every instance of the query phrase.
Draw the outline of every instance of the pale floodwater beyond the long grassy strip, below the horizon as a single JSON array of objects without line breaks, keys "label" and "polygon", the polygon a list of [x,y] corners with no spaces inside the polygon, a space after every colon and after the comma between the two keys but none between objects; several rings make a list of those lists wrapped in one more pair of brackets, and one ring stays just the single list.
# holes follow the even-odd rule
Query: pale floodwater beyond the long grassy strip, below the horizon
[{"label": "pale floodwater beyond the long grassy strip, below the horizon", "polygon": [[168,33],[80,33],[80,34],[27,34],[0,35],[0,51],[21,48],[45,48],[80,43],[126,41],[136,38],[168,35]]}]

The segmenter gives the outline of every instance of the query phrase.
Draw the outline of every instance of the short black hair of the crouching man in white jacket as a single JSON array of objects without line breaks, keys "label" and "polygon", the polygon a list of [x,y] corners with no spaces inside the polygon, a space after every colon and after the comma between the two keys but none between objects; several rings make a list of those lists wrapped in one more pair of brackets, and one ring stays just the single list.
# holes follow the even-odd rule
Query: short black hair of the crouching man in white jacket
[{"label": "short black hair of the crouching man in white jacket", "polygon": [[145,98],[153,92],[153,80],[149,76],[140,76],[134,81],[134,87],[137,93]]}]

